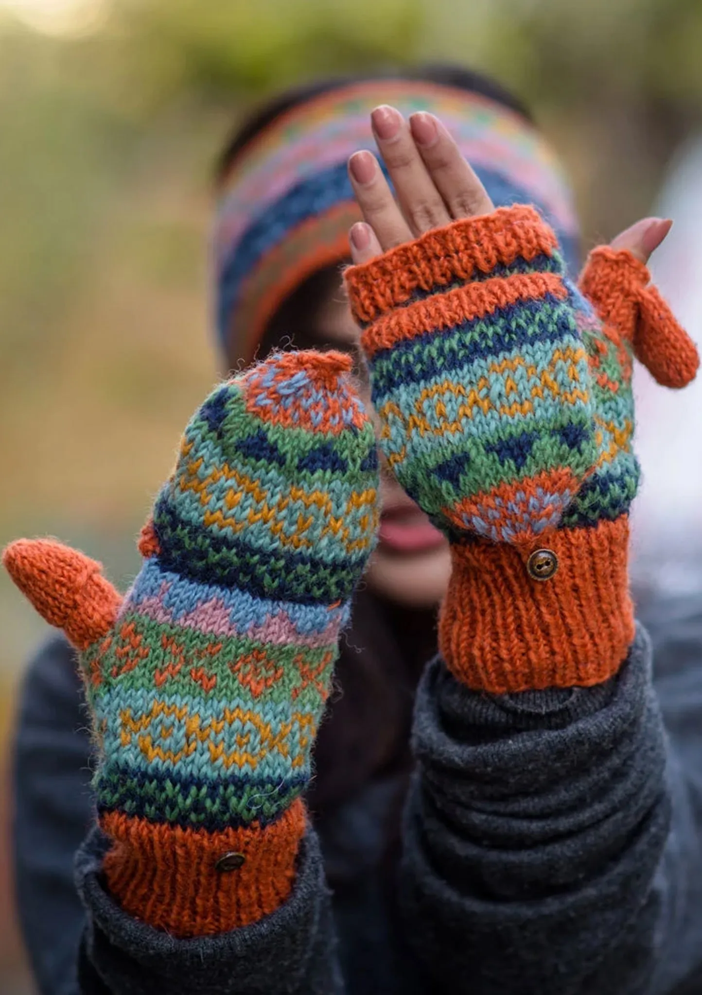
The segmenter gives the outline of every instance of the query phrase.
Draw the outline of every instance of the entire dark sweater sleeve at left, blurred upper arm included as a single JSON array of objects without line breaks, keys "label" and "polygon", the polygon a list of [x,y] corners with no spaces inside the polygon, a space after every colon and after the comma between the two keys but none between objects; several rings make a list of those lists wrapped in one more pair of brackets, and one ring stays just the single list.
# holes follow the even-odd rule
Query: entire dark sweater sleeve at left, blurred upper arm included
[{"label": "entire dark sweater sleeve at left, blurred upper arm included", "polygon": [[55,638],[28,669],[14,743],[17,892],[42,995],[343,991],[312,830],[303,840],[291,896],[250,926],[177,939],[119,907],[103,874],[111,843],[96,824],[82,700],[75,655]]}]

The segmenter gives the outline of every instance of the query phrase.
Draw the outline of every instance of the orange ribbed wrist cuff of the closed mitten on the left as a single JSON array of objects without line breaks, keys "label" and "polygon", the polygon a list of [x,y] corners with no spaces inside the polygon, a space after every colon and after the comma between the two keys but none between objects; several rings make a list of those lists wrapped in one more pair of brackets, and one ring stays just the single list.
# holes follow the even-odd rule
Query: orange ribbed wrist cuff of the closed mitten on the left
[{"label": "orange ribbed wrist cuff of the closed mitten on the left", "polygon": [[108,890],[134,918],[173,936],[205,936],[249,925],[290,896],[307,825],[296,799],[265,828],[210,833],[111,812],[115,840],[104,873]]}]

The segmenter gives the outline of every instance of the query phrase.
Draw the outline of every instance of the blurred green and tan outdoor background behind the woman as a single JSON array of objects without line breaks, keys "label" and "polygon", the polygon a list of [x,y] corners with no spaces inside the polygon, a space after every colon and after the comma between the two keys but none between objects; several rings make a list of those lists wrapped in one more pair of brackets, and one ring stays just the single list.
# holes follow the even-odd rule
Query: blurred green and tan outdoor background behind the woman
[{"label": "blurred green and tan outdoor background behind the woman", "polygon": [[[135,571],[217,375],[210,176],[252,101],[388,64],[487,71],[562,152],[591,245],[650,210],[698,129],[701,48],[699,0],[0,0],[0,545],[51,533]],[[4,576],[0,627],[6,744],[44,628]],[[0,992],[28,992],[0,854]]]}]

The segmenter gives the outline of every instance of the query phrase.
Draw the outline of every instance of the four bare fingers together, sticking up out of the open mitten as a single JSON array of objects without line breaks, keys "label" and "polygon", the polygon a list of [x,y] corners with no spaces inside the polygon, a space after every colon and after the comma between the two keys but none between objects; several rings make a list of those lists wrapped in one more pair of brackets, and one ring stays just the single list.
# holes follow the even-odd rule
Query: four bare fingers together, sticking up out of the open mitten
[{"label": "four bare fingers together, sticking up out of the open mitten", "polygon": [[397,201],[375,156],[367,151],[351,155],[351,185],[365,219],[351,228],[354,264],[367,263],[431,228],[494,210],[485,187],[433,114],[419,111],[407,122],[399,110],[382,105],[370,121]]}]

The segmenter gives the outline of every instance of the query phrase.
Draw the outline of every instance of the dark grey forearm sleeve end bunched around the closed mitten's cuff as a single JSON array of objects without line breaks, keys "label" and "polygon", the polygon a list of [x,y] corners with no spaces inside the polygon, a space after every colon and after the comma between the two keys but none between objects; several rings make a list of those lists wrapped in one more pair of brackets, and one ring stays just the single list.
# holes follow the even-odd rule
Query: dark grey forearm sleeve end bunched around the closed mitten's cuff
[{"label": "dark grey forearm sleeve end bunched around the closed mitten's cuff", "polygon": [[109,839],[96,828],[79,851],[88,912],[79,957],[82,995],[336,995],[343,991],[317,836],[299,853],[288,900],[251,925],[177,939],[123,912],[101,877]]}]

